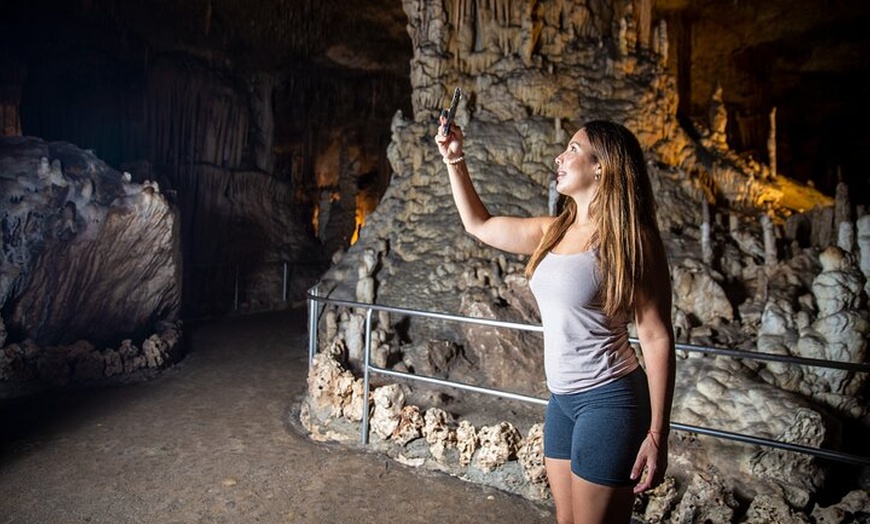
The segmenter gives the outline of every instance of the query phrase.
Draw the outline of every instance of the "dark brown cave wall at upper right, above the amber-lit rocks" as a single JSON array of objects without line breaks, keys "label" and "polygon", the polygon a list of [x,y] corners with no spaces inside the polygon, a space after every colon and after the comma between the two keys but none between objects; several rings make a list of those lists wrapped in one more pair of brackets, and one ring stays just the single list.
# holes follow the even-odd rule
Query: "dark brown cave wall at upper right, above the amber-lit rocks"
[{"label": "dark brown cave wall at upper right, above the amber-lit rocks", "polygon": [[775,128],[780,173],[829,195],[846,182],[855,203],[868,204],[858,153],[868,135],[856,120],[868,112],[859,80],[870,51],[867,2],[659,0],[655,11],[679,58],[672,65],[685,119],[705,120],[721,86],[733,150],[769,163]]}]

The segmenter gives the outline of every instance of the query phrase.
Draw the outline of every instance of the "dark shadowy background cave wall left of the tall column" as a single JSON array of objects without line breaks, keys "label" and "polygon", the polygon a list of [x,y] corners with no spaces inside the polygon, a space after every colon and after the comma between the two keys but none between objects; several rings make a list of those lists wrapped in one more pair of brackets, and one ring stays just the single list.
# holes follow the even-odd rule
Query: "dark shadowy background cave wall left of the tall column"
[{"label": "dark shadowy background cave wall left of the tall column", "polygon": [[[232,2],[5,4],[3,132],[158,182],[182,214],[187,316],[286,307],[387,186],[409,103],[410,48],[376,29],[391,12],[258,5],[241,27]],[[355,36],[323,38],[336,24]]]}]

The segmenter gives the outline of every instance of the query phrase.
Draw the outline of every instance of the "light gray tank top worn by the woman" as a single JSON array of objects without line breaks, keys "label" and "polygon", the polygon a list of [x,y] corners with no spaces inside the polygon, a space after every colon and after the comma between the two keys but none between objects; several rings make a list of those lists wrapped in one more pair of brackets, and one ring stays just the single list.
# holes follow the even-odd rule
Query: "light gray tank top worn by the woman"
[{"label": "light gray tank top worn by the woman", "polygon": [[608,318],[601,310],[596,254],[547,253],[529,281],[544,326],[547,387],[556,394],[607,384],[639,365],[626,315]]}]

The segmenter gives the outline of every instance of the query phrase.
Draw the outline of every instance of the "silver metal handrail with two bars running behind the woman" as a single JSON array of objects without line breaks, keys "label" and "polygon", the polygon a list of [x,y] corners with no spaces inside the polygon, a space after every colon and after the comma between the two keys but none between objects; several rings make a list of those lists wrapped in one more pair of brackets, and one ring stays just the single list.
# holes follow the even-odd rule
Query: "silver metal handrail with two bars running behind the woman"
[{"label": "silver metal handrail with two bars running behind the woman", "polygon": [[[507,322],[502,320],[493,320],[487,318],[479,318],[479,317],[467,317],[462,315],[452,315],[447,313],[438,313],[432,311],[423,311],[417,309],[410,308],[402,308],[396,306],[386,306],[382,304],[371,304],[365,302],[355,302],[351,300],[341,300],[341,299],[333,299],[327,297],[321,297],[317,295],[317,286],[311,288],[306,296],[308,298],[309,303],[309,335],[308,335],[308,362],[309,367],[314,359],[314,355],[317,352],[317,317],[318,315],[318,304],[330,304],[334,306],[343,306],[349,308],[356,309],[365,309],[366,310],[366,319],[365,319],[365,353],[363,359],[363,406],[368,406],[369,404],[369,382],[370,382],[370,374],[378,373],[382,375],[387,375],[396,378],[404,378],[407,380],[413,380],[417,382],[424,382],[429,384],[436,384],[441,386],[452,387],[455,389],[472,391],[476,393],[483,393],[487,395],[497,396],[501,398],[507,398],[512,400],[519,400],[522,402],[528,402],[533,404],[546,405],[547,400],[538,398],[538,397],[530,397],[527,395],[522,395],[519,393],[513,393],[508,391],[501,391],[497,389],[485,388],[481,386],[474,386],[471,384],[465,384],[462,382],[455,382],[446,379],[439,379],[435,377],[429,377],[425,375],[415,375],[412,373],[405,373],[401,371],[394,371],[390,369],[385,369],[377,366],[373,366],[371,364],[371,342],[372,342],[372,313],[375,311],[384,311],[388,313],[400,313],[403,315],[409,316],[419,316],[425,318],[434,318],[440,320],[450,320],[455,322],[469,323],[469,324],[478,324],[478,325],[486,325],[486,326],[494,326],[494,327],[503,327],[507,329],[518,329],[522,331],[533,331],[533,332],[542,332],[543,327],[539,324],[523,324],[518,322]],[[629,338],[629,341],[633,343],[637,343],[637,339]],[[731,356],[736,358],[747,358],[754,360],[767,360],[767,361],[775,361],[775,362],[786,362],[790,364],[804,365],[804,366],[814,366],[814,367],[826,367],[833,369],[844,369],[848,371],[854,371],[857,373],[867,373],[870,372],[870,364],[865,363],[853,363],[853,362],[842,362],[842,361],[828,361],[822,359],[812,359],[812,358],[803,358],[803,357],[795,357],[791,355],[777,355],[773,353],[756,353],[751,351],[737,350],[737,349],[727,349],[727,348],[716,348],[716,347],[708,347],[708,346],[700,346],[694,344],[675,344],[676,349],[680,349],[683,351],[689,352],[698,352],[705,354],[715,354],[715,355],[724,355]],[[733,440],[737,442],[743,442],[747,444],[756,444],[760,446],[782,449],[785,451],[792,451],[796,453],[804,453],[808,455],[812,455],[815,457],[835,460],[838,462],[845,462],[849,464],[861,465],[861,466],[870,466],[870,457],[862,457],[859,455],[853,455],[849,453],[842,453],[839,451],[821,449],[821,448],[813,448],[810,446],[802,446],[799,444],[792,444],[788,442],[782,442],[774,439],[767,439],[763,437],[756,437],[753,435],[746,435],[743,433],[734,433],[730,431],[724,431],[715,428],[706,428],[703,426],[693,426],[689,424],[682,424],[679,422],[671,422],[670,427],[676,431],[685,431],[689,433],[696,433],[699,435],[707,435],[714,438],[720,438],[724,440]],[[368,444],[368,434],[369,434],[369,410],[363,409],[362,413],[362,428],[361,428],[361,442],[362,444]]]}]

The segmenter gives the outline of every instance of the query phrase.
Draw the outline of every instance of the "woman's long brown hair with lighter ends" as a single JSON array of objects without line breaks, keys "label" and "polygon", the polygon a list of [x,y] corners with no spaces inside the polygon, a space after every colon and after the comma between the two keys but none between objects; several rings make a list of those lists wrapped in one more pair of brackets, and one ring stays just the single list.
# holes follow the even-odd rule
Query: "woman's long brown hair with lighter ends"
[{"label": "woman's long brown hair with lighter ends", "polygon": [[[635,286],[643,278],[644,236],[661,242],[655,198],[637,137],[625,126],[594,120],[583,126],[591,153],[601,164],[598,190],[589,203],[594,233],[585,249],[598,248],[602,309],[608,316],[634,304]],[[526,264],[531,278],[538,264],[559,243],[577,216],[574,199],[550,225]]]}]

